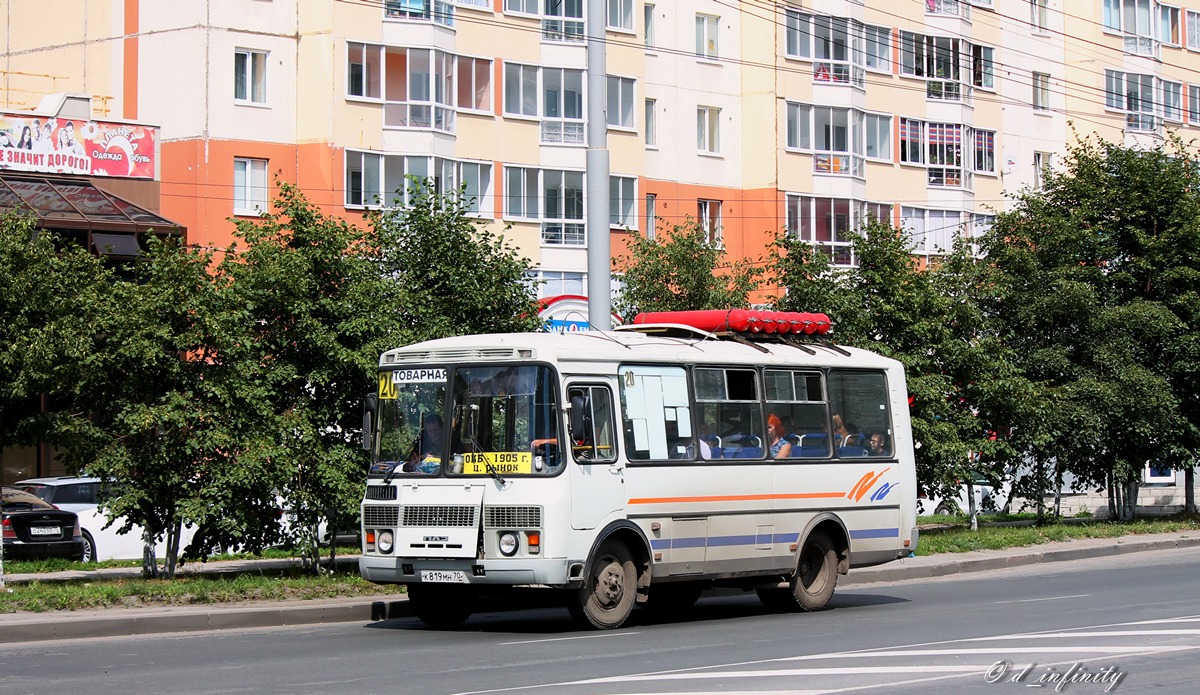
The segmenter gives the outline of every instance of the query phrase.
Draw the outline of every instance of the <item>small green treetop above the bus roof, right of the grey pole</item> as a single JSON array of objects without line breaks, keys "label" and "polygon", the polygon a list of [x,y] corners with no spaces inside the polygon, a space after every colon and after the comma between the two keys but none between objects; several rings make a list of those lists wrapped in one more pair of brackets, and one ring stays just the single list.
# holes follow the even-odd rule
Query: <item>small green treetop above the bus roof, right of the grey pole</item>
[{"label": "small green treetop above the bus roof, right of the grey pole", "polygon": [[613,310],[626,320],[643,311],[746,307],[761,275],[749,259],[726,262],[720,242],[691,217],[654,239],[631,235],[629,253],[612,265],[623,274]]}]

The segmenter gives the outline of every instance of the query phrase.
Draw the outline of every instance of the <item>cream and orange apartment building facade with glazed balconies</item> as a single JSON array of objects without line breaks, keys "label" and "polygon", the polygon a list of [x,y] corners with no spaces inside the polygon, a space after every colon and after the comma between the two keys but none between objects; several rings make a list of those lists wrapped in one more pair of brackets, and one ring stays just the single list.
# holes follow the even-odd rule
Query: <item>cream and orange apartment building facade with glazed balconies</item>
[{"label": "cream and orange apartment building facade with glazed balconies", "polygon": [[157,127],[148,206],[191,242],[228,247],[276,179],[356,221],[432,178],[509,227],[542,296],[588,294],[588,234],[619,254],[688,217],[734,258],[786,232],[853,264],[869,217],[937,256],[1075,133],[1200,127],[1198,0],[607,0],[610,227],[588,229],[586,0],[2,7],[5,112],[72,95]]}]

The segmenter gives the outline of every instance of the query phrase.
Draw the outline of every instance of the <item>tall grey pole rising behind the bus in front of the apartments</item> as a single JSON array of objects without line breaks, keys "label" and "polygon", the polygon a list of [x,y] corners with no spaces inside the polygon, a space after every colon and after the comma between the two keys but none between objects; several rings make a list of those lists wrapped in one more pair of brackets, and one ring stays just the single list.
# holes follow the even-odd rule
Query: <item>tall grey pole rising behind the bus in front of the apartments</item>
[{"label": "tall grey pole rising behind the bus in front of the apartments", "polygon": [[608,244],[608,122],[605,118],[605,0],[588,0],[588,323],[608,330],[612,326],[612,253]]}]

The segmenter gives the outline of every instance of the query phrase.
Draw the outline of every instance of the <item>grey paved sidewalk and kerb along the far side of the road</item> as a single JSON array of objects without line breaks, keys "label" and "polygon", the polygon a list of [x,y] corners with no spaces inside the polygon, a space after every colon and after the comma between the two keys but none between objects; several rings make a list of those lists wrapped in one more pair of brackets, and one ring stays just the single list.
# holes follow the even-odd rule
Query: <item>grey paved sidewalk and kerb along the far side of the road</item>
[{"label": "grey paved sidewalk and kerb along the far side of the road", "polygon": [[[874,582],[911,581],[1024,567],[1046,562],[1064,562],[1200,546],[1200,533],[1178,532],[1120,538],[1080,539],[1049,543],[1031,547],[982,550],[910,557],[886,565],[851,570],[839,577],[840,586]],[[358,562],[354,556],[340,562]],[[181,574],[246,571],[251,568],[277,568],[294,561],[229,561],[185,565]],[[138,576],[138,568],[100,569],[94,571],[54,573],[52,575],[7,575],[6,581],[54,581]],[[67,640],[100,636],[149,635],[242,628],[269,628],[314,623],[366,623],[412,617],[404,594],[322,599],[306,601],[260,601],[232,605],[163,606],[144,609],[98,609],[71,612],[0,615],[0,645],[41,640]]]}]

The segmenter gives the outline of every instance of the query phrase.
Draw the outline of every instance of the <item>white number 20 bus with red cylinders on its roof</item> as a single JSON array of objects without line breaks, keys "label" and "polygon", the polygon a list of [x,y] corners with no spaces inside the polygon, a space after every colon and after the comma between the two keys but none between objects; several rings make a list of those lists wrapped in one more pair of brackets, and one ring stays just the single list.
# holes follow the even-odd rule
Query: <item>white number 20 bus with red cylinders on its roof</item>
[{"label": "white number 20 bus with red cylinders on its roof", "polygon": [[715,586],[821,610],[839,573],[916,550],[901,365],[803,335],[822,314],[702,314],[384,353],[362,576],[433,627],[545,587],[605,629]]}]

